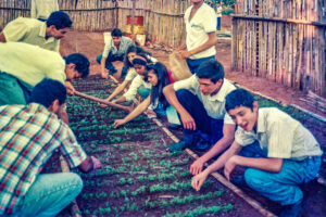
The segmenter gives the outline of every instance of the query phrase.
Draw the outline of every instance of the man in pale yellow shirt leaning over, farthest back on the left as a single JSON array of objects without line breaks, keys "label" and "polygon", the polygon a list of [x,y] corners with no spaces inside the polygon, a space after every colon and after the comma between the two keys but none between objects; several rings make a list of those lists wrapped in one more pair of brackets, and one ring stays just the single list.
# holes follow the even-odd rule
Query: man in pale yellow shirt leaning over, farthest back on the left
[{"label": "man in pale yellow shirt leaning over, farthest back on the left", "polygon": [[10,22],[0,34],[0,42],[25,42],[59,52],[60,40],[72,27],[70,16],[62,12],[51,13],[47,22],[18,17]]}]

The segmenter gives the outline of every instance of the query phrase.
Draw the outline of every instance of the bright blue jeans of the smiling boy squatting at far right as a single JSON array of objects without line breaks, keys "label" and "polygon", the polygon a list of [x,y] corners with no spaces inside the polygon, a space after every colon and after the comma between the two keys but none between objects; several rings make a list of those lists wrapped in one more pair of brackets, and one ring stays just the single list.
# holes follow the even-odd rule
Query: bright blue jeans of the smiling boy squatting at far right
[{"label": "bright blue jeans of the smiling boy squatting at far right", "polygon": [[[266,157],[266,150],[262,150],[258,142],[242,148],[241,156]],[[281,205],[299,202],[303,197],[300,184],[304,184],[316,177],[321,168],[321,156],[309,156],[303,161],[284,159],[278,174],[248,168],[244,171],[247,184]]]}]

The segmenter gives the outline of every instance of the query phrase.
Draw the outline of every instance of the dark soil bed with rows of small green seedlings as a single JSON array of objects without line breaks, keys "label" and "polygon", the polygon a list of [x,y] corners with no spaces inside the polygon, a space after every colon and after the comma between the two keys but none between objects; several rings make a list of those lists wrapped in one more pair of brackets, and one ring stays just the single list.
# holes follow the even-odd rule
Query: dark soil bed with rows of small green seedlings
[{"label": "dark soil bed with rows of small green seedlings", "polygon": [[[101,99],[115,87],[99,77],[73,85]],[[193,159],[184,152],[167,153],[172,140],[147,116],[114,129],[114,119],[126,112],[79,97],[68,98],[67,112],[82,146],[103,163],[95,173],[80,174],[83,216],[261,216],[212,177],[196,192],[189,174]]]}]

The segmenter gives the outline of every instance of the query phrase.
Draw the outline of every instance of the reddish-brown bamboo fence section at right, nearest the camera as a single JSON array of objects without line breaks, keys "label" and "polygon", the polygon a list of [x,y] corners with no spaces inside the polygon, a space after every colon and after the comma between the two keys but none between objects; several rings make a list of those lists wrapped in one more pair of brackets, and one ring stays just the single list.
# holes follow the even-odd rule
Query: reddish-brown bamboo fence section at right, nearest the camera
[{"label": "reddish-brown bamboo fence section at right, nearest the camera", "polygon": [[239,0],[233,68],[326,97],[325,0]]}]

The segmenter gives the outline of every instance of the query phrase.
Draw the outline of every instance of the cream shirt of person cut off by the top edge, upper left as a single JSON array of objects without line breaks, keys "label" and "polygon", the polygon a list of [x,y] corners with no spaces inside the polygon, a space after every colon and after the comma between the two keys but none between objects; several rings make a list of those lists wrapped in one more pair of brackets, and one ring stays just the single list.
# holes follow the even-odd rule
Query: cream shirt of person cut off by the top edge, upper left
[{"label": "cream shirt of person cut off by the top edge, upper left", "polygon": [[58,0],[32,0],[30,17],[47,20],[53,11],[59,11]]}]

